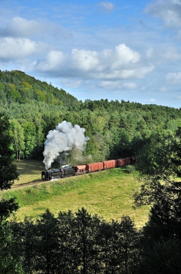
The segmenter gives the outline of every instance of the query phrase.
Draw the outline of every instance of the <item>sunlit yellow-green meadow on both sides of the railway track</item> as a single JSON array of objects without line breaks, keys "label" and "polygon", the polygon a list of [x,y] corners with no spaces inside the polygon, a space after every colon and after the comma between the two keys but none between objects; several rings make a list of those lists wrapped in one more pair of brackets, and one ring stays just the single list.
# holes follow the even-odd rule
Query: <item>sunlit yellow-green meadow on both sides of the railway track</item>
[{"label": "sunlit yellow-green meadow on both sides of the railway track", "polygon": [[[16,184],[40,181],[42,162],[20,161],[17,163],[20,180]],[[126,169],[111,169],[100,173],[91,173],[69,177],[38,186],[27,186],[3,192],[3,197],[16,197],[20,209],[16,212],[18,221],[25,216],[37,219],[46,208],[58,214],[59,211],[76,212],[86,208],[91,214],[98,214],[107,221],[120,220],[129,215],[137,227],[148,220],[149,207],[133,208],[133,192],[140,187],[136,174],[128,174]]]}]

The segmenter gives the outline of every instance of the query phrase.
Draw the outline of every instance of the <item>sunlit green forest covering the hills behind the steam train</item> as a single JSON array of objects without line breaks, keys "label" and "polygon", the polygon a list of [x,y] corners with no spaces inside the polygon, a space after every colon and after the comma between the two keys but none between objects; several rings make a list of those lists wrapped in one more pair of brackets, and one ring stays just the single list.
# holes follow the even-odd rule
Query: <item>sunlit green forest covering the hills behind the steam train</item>
[{"label": "sunlit green forest covering the hills behind the steam train", "polygon": [[139,155],[154,133],[181,126],[181,109],[123,100],[82,102],[21,71],[0,72],[0,112],[10,117],[17,159],[43,159],[46,136],[62,121],[85,129],[90,140],[84,155],[92,161]]}]

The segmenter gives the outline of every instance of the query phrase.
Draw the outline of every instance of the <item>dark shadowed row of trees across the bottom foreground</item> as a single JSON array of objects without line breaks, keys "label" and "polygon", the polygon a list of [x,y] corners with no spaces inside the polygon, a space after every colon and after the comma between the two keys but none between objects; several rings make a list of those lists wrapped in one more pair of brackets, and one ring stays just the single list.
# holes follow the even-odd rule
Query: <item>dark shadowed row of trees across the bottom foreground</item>
[{"label": "dark shadowed row of trees across the bottom foreground", "polygon": [[137,229],[129,216],[107,222],[84,208],[57,217],[46,210],[37,221],[3,220],[1,273],[179,274],[180,236],[160,229],[158,236],[154,221]]}]

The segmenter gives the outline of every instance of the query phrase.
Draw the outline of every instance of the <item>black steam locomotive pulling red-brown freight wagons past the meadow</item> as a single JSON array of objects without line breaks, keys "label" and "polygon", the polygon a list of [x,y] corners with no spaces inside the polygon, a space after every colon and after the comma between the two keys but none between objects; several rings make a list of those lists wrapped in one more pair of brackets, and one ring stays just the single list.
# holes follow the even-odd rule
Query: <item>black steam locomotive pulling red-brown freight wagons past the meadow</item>
[{"label": "black steam locomotive pulling red-brown freight wagons past the meadow", "polygon": [[108,160],[102,162],[94,162],[90,164],[83,164],[81,166],[64,166],[59,169],[48,169],[46,171],[42,171],[42,180],[49,181],[51,179],[60,179],[74,175],[91,173],[94,171],[103,171],[106,169],[113,169],[119,166],[126,166],[128,164],[135,164],[136,162],[136,157],[127,157],[117,160]]}]

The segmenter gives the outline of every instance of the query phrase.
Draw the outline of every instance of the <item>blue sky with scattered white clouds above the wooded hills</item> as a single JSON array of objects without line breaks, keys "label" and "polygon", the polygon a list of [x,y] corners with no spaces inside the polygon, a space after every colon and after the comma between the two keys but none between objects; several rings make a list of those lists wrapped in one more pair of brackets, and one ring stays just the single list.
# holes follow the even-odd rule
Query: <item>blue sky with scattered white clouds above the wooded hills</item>
[{"label": "blue sky with scattered white clouds above the wooded hills", "polygon": [[1,0],[0,69],[82,101],[180,108],[181,0]]}]

